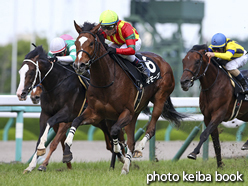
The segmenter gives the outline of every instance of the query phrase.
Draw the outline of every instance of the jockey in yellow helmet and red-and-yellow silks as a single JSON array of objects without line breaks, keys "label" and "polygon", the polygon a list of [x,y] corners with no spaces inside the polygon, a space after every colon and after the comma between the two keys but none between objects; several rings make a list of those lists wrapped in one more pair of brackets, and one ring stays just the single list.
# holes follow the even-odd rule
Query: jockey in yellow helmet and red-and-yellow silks
[{"label": "jockey in yellow helmet and red-and-yellow silks", "polygon": [[146,77],[150,77],[150,70],[142,63],[143,61],[135,57],[135,52],[141,48],[137,30],[128,22],[119,20],[118,15],[112,10],[102,12],[99,22],[100,32],[105,39],[112,42],[109,44],[109,54],[119,54],[138,67]]}]

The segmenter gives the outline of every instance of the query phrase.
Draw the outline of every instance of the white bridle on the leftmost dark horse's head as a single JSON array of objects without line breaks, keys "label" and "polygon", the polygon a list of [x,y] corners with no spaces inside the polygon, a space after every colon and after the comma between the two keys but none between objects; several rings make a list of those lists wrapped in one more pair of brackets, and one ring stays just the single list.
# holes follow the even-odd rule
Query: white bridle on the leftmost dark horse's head
[{"label": "white bridle on the leftmost dark horse's head", "polygon": [[[37,60],[36,63],[35,63],[35,62],[34,62],[33,60],[31,60],[31,59],[24,59],[23,62],[30,62],[30,63],[34,64],[35,67],[36,67],[36,70],[35,70],[35,78],[34,78],[34,81],[33,81],[32,85],[27,89],[28,92],[30,92],[32,89],[34,89],[35,87],[37,87],[39,84],[42,83],[42,81],[43,81],[43,80],[47,77],[47,75],[51,72],[51,70],[53,69],[53,65],[54,65],[54,63],[52,63],[51,68],[47,71],[47,73],[45,74],[45,76],[43,77],[43,79],[41,79],[41,72],[40,72],[40,69],[39,69],[39,61],[38,61],[38,60]],[[39,81],[40,81],[40,82],[35,86],[35,82],[37,81],[38,76],[39,76]]]}]

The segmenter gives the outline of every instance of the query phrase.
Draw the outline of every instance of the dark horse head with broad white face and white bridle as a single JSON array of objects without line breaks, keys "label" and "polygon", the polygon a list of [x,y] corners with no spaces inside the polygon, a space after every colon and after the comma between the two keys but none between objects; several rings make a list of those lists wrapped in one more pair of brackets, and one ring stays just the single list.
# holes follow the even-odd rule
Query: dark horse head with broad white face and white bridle
[{"label": "dark horse head with broad white face and white bridle", "polygon": [[19,70],[20,83],[16,91],[16,95],[20,101],[27,99],[27,95],[31,90],[41,82],[40,63],[47,59],[47,54],[44,52],[42,46],[36,47],[29,52],[23,60],[22,66]]}]

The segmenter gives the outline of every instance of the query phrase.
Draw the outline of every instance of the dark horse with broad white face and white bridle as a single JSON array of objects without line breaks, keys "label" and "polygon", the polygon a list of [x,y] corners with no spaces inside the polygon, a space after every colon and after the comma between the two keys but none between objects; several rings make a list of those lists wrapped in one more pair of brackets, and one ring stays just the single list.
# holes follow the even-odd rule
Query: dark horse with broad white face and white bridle
[{"label": "dark horse with broad white face and white bridle", "polygon": [[[29,167],[24,171],[32,171],[36,166],[38,156],[45,154],[45,142],[50,127],[57,135],[50,145],[50,153],[39,170],[46,170],[51,153],[61,141],[64,149],[66,132],[74,118],[80,115],[85,104],[86,87],[80,82],[71,66],[64,68],[57,63],[51,63],[42,46],[36,47],[28,53],[19,70],[20,84],[17,96],[20,101],[26,100],[28,93],[42,82],[40,135],[35,149],[35,155]],[[59,124],[59,125],[56,125]],[[110,123],[109,123],[110,125]],[[101,121],[99,127],[105,135],[107,149],[112,150],[108,126]],[[42,138],[43,137],[43,138]],[[123,139],[122,139],[123,140]],[[71,168],[71,163],[67,163]]]}]

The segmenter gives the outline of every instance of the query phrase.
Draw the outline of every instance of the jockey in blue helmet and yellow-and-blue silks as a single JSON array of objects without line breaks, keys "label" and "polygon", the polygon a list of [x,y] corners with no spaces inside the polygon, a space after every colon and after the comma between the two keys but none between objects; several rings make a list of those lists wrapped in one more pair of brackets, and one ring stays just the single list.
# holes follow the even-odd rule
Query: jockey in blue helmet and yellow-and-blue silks
[{"label": "jockey in blue helmet and yellow-and-blue silks", "polygon": [[246,50],[236,41],[226,38],[224,34],[217,33],[212,37],[211,45],[206,52],[208,57],[217,57],[227,61],[226,69],[241,83],[244,92],[248,93],[248,83],[238,68],[244,66],[248,61]]}]

